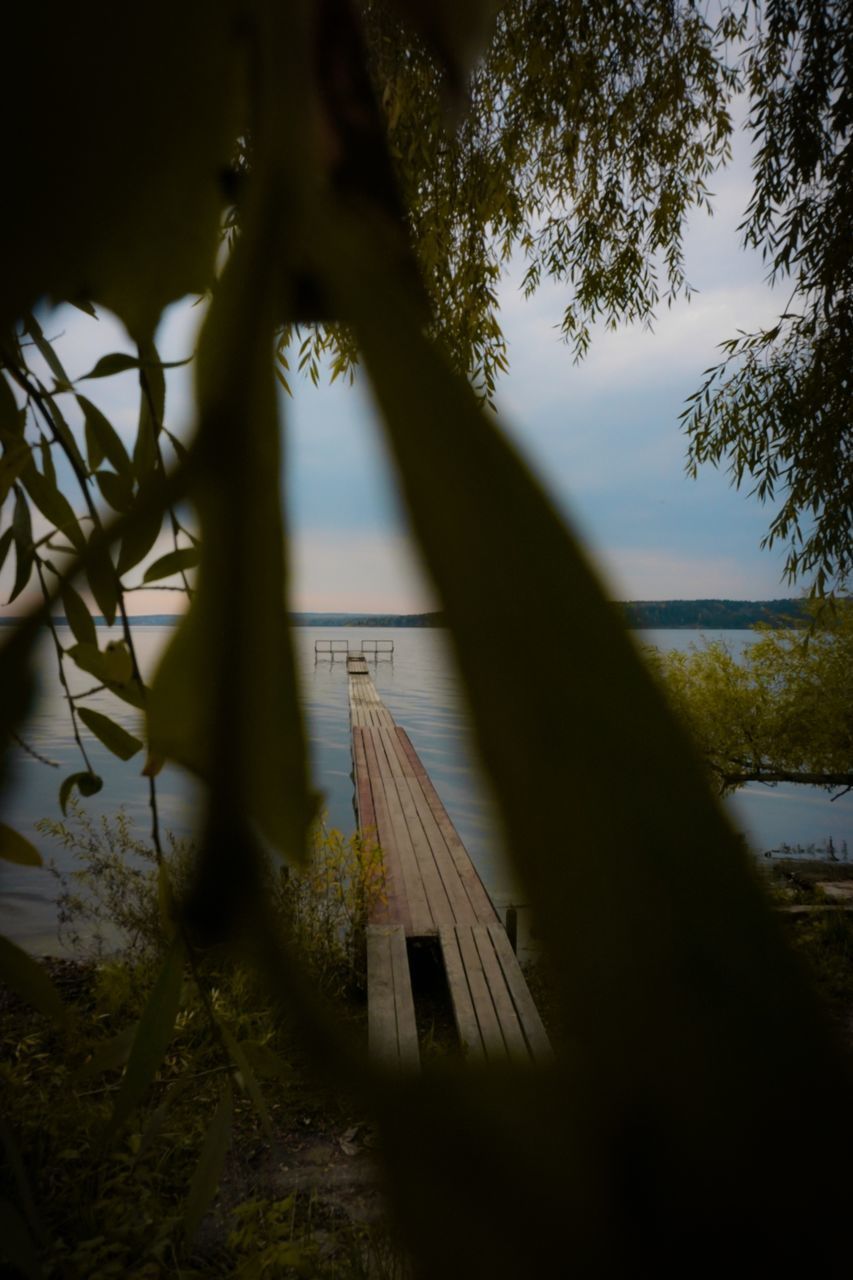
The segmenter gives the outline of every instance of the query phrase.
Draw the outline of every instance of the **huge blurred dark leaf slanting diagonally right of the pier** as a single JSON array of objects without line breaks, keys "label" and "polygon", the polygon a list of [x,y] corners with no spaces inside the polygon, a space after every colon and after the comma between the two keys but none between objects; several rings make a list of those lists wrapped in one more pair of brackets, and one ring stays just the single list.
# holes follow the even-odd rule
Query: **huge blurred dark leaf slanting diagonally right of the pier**
[{"label": "huge blurred dark leaf slanting diagonally right of the pier", "polygon": [[[341,308],[357,333],[571,1037],[556,1092],[532,1100],[532,1132],[548,1144],[561,1133],[574,1158],[581,1138],[569,1100],[580,1079],[583,1133],[612,1140],[598,1143],[594,1160],[587,1152],[603,1183],[598,1192],[589,1184],[573,1231],[634,1160],[649,1176],[654,1161],[665,1165],[654,1166],[662,1197],[712,1176],[715,1206],[731,1220],[751,1212],[754,1185],[779,1161],[794,1176],[803,1161],[826,1160],[843,1178],[820,1134],[794,1146],[770,1137],[786,1098],[804,1102],[830,1079],[840,1089],[845,1071],[693,744],[578,536],[425,338],[380,246],[329,234]],[[525,657],[532,628],[535,660]],[[548,1100],[549,1117],[538,1111]],[[461,1111],[455,1120],[471,1123]],[[736,1178],[731,1143],[743,1160]],[[394,1176],[406,1178],[401,1162]],[[502,1197],[498,1176],[489,1187]],[[707,1206],[680,1204],[690,1230],[704,1231]],[[456,1212],[447,1198],[442,1212]]]}]

